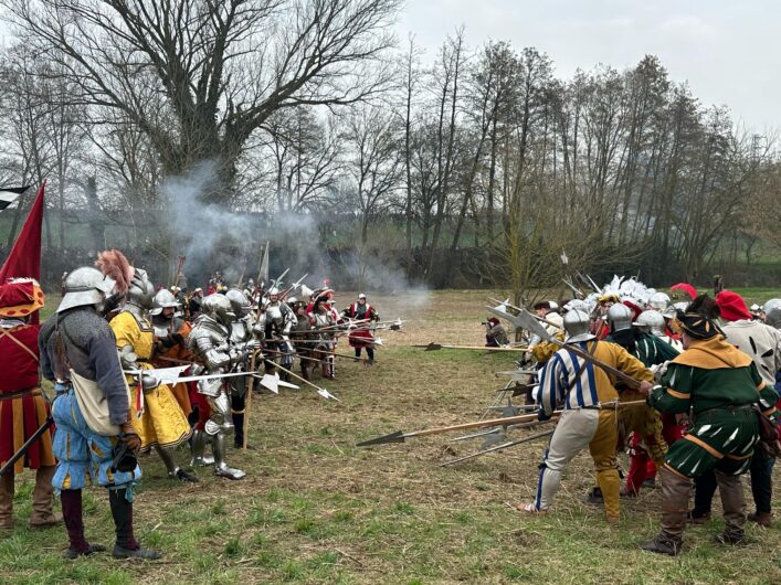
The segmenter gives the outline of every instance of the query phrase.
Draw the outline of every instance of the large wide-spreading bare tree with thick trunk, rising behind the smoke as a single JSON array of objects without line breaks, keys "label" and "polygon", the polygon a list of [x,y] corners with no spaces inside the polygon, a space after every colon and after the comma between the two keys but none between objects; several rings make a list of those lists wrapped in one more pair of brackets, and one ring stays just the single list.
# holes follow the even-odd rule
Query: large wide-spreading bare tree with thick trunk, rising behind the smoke
[{"label": "large wide-spreading bare tree with thick trunk, rising behind the smoke", "polygon": [[[276,110],[365,99],[389,81],[399,0],[2,0],[31,50],[120,110],[168,173],[220,162],[225,201],[250,136]],[[163,96],[162,104],[159,97]],[[162,107],[161,107],[162,106]]]}]

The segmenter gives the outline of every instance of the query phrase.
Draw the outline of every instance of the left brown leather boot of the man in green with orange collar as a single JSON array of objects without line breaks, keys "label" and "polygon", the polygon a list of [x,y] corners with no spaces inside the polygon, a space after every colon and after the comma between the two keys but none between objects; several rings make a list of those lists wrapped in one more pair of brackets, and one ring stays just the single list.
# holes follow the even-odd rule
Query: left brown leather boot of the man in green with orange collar
[{"label": "left brown leather boot of the man in green with orange collar", "polygon": [[675,556],[680,552],[686,529],[692,480],[666,467],[659,469],[662,480],[662,530],[651,542],[641,545],[644,551]]}]

